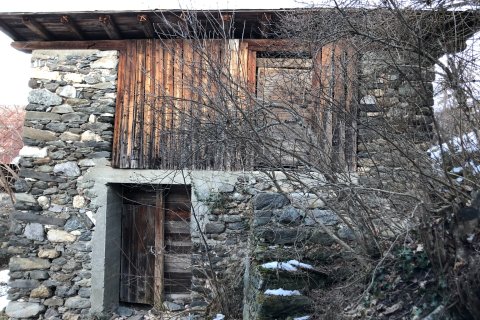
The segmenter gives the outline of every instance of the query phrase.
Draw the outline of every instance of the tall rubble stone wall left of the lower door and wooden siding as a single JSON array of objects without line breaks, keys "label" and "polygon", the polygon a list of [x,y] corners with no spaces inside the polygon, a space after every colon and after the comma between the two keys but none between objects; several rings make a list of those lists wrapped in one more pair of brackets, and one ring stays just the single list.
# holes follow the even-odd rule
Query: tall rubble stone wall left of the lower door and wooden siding
[{"label": "tall rubble stone wall left of the lower door and wooden siding", "polygon": [[116,51],[35,51],[8,251],[12,318],[75,319],[90,308],[89,183],[109,158]]}]

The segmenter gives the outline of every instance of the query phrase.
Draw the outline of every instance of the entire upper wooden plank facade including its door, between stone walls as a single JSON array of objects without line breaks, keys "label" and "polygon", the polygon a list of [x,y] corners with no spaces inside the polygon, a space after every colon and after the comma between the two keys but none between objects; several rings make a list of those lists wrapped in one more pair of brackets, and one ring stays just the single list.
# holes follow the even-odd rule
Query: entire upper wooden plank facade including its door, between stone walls
[{"label": "entire upper wooden plank facade including its door, between stone walls", "polygon": [[[353,51],[337,43],[306,57],[286,59],[289,52],[275,51],[276,56],[264,59],[257,50],[269,51],[239,40],[126,41],[119,63],[113,166],[295,167],[298,161],[285,155],[299,153],[305,160],[300,165],[322,162],[353,170]],[[296,65],[285,65],[292,61]],[[288,127],[289,118],[297,119],[296,127]]]}]

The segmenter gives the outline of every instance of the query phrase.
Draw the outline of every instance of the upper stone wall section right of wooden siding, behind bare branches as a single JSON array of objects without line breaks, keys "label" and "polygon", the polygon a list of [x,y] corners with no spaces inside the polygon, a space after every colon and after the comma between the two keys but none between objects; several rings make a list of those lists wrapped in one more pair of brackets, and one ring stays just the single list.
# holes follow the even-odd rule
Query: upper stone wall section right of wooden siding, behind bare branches
[{"label": "upper stone wall section right of wooden siding, behind bare branches", "polygon": [[410,168],[407,157],[426,155],[433,137],[435,74],[431,63],[422,65],[412,54],[380,50],[363,54],[359,72],[358,166],[378,182]]}]

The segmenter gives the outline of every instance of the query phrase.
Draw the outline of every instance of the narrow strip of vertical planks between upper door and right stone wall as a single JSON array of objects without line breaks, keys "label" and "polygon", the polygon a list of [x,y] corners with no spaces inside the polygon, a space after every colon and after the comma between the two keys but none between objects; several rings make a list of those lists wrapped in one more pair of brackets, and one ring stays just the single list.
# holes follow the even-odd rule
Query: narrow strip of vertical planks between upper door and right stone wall
[{"label": "narrow strip of vertical planks between upper door and right stone wall", "polygon": [[313,131],[325,163],[334,170],[355,170],[357,155],[357,56],[342,42],[313,56]]}]

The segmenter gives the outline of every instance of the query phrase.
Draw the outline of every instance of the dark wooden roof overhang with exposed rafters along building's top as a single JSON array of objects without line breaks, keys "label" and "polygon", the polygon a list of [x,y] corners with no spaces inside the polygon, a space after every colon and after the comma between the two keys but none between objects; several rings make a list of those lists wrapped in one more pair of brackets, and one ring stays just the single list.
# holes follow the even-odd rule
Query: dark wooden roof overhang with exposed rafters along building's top
[{"label": "dark wooden roof overhang with exposed rafters along building's top", "polygon": [[[422,30],[421,37],[436,51],[458,51],[462,43],[480,29],[478,11],[403,10],[404,17]],[[282,38],[275,31],[282,16],[307,15],[317,21],[336,23],[344,15],[356,17],[359,25],[392,15],[387,9],[303,8],[274,10],[143,10],[55,13],[0,13],[0,30],[15,42],[14,48],[34,49],[115,49],[122,40],[158,38],[235,38],[265,40]],[[388,23],[389,18],[385,20]],[[432,21],[434,21],[432,23]],[[338,22],[337,22],[338,23]],[[408,21],[407,21],[408,23]],[[307,26],[308,28],[308,26]],[[300,28],[301,29],[301,28]],[[335,35],[335,32],[332,33]],[[453,41],[453,45],[449,42]],[[443,44],[446,45],[443,45]],[[433,48],[433,47],[432,47]]]}]

